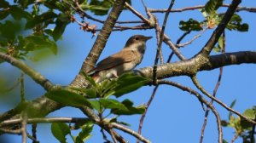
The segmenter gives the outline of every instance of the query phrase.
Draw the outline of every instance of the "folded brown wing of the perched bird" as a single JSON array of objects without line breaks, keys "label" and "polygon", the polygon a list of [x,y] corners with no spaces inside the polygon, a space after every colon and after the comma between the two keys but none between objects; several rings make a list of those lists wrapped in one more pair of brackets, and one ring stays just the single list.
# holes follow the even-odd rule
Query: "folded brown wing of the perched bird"
[{"label": "folded brown wing of the perched bird", "polygon": [[132,50],[121,50],[119,53],[110,55],[108,58],[100,61],[91,72],[99,72],[114,66],[119,66],[125,62],[134,60],[134,56],[136,55]]}]

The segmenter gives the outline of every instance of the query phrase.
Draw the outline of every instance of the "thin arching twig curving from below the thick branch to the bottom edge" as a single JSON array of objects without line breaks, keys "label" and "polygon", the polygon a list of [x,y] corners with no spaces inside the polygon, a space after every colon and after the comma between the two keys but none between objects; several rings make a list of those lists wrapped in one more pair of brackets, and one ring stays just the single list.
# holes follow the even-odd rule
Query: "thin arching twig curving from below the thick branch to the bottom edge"
[{"label": "thin arching twig curving from below the thick branch to the bottom edge", "polygon": [[218,143],[222,143],[222,140],[223,140],[223,132],[222,132],[222,127],[221,127],[221,120],[220,120],[220,117],[219,117],[219,114],[217,112],[217,110],[215,109],[214,106],[212,106],[212,104],[208,103],[207,100],[205,100],[201,94],[199,94],[198,92],[196,92],[195,90],[191,89],[191,88],[188,88],[188,87],[185,87],[179,83],[175,83],[175,82],[171,82],[171,81],[166,81],[166,80],[160,80],[158,81],[158,84],[167,84],[167,85],[172,85],[174,87],[177,87],[178,89],[182,89],[183,91],[187,91],[189,92],[190,94],[194,94],[198,100],[200,100],[201,102],[203,102],[204,104],[207,105],[207,107],[209,107],[213,114],[215,115],[216,117],[216,122],[217,122],[217,127],[218,127]]}]

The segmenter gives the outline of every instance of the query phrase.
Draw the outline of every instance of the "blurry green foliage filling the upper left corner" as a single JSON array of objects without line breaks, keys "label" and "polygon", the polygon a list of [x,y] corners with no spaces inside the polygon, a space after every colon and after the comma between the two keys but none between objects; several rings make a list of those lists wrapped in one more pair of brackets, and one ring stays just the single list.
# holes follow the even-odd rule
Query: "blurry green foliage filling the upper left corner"
[{"label": "blurry green foliage filling the upper left corner", "polygon": [[[97,15],[108,14],[114,1],[79,1],[83,10]],[[57,44],[75,9],[73,1],[0,0],[0,51],[26,60],[28,54],[39,49],[50,49],[57,54]],[[131,3],[131,2],[130,2]]]}]

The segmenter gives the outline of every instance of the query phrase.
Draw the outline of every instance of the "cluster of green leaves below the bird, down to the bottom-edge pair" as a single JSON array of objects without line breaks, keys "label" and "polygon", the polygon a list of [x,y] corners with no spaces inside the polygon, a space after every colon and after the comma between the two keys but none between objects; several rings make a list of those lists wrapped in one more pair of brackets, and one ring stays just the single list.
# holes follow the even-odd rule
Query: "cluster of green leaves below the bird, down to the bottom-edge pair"
[{"label": "cluster of green leaves below the bird, down to the bottom-edge pair", "polygon": [[[90,89],[53,89],[47,93],[46,96],[49,99],[55,100],[65,106],[88,106],[90,109],[95,110],[100,116],[107,115],[106,117],[109,117],[113,115],[111,122],[115,123],[124,124],[124,122],[119,122],[117,120],[115,117],[116,115],[142,114],[145,111],[144,105],[133,106],[133,102],[131,100],[125,99],[123,101],[119,101],[110,99],[110,95],[114,95],[118,98],[124,94],[139,89],[148,82],[147,78],[140,77],[132,73],[125,73],[117,79],[106,79],[102,83],[95,83],[91,77],[88,77],[86,74],[84,74],[84,76],[92,86]],[[89,99],[85,98],[83,94],[88,96]],[[83,142],[90,137],[93,123],[84,123],[79,128],[82,129],[82,131],[78,136],[71,135],[75,143]],[[57,140],[65,142],[66,135],[70,134],[70,130],[65,123],[53,123],[52,133]]]}]

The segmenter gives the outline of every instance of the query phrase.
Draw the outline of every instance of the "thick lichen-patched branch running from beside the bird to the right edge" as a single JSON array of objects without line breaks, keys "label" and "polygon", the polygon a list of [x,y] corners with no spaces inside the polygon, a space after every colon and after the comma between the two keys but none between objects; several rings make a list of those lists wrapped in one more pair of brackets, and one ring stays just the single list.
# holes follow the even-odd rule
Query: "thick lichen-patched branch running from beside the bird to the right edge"
[{"label": "thick lichen-patched branch running from beside the bird to the right edge", "polygon": [[[202,62],[205,63],[202,64]],[[166,63],[158,66],[157,78],[192,76],[196,72],[211,71],[222,66],[240,65],[243,63],[256,64],[256,51],[212,55],[208,61],[201,61],[201,58],[192,58],[174,63]],[[137,72],[143,75],[143,77],[153,77],[153,67],[144,67],[137,70]]]}]

